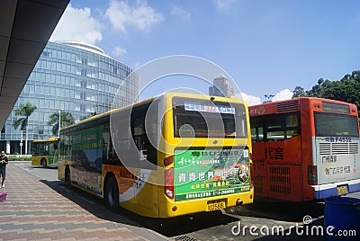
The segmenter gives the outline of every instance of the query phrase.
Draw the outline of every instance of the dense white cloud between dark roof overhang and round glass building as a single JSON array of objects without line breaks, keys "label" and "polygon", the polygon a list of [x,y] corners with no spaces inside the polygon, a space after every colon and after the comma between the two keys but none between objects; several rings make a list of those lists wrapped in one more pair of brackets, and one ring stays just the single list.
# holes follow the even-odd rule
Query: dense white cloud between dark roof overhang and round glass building
[{"label": "dense white cloud between dark roof overhang and round glass building", "polygon": [[68,4],[50,40],[75,40],[94,44],[103,39],[100,31],[102,27],[91,16],[90,8],[74,8]]}]

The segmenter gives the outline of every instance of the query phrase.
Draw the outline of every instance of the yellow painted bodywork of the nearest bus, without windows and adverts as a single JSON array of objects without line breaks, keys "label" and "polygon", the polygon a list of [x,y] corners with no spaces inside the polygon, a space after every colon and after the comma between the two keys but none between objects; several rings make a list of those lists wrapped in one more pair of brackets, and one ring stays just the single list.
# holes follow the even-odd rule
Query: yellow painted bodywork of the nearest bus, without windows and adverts
[{"label": "yellow painted bodywork of the nearest bus, without windows and adverts", "polygon": [[[196,98],[208,100],[210,96],[206,95],[197,95],[197,94],[175,94],[175,93],[166,93],[165,95],[165,108],[166,110],[172,110],[172,99],[175,96],[180,96],[184,98]],[[245,106],[246,119],[247,119],[247,138],[175,138],[174,133],[174,122],[173,122],[173,113],[172,111],[168,111],[165,113],[163,118],[163,126],[162,126],[162,136],[164,139],[160,143],[160,147],[163,147],[166,150],[167,154],[164,154],[161,151],[157,151],[157,166],[165,168],[166,170],[174,168],[174,163],[171,165],[164,165],[164,159],[168,156],[172,156],[175,153],[176,147],[247,147],[248,151],[251,154],[251,135],[250,128],[248,125],[248,112],[247,112],[247,104],[245,102],[239,101],[237,98],[225,98],[225,97],[215,97],[218,102],[224,103],[240,103]],[[139,106],[142,103],[147,103],[148,101],[153,100],[152,98],[145,100],[140,103],[136,103],[134,106]],[[126,110],[130,107],[123,107],[121,110]],[[111,111],[112,112],[112,111]],[[107,115],[110,115],[111,112],[105,112],[95,117],[91,117],[85,121],[81,121],[78,125],[85,125],[85,123],[89,123],[91,121],[96,121],[98,119],[104,118]],[[68,127],[67,129],[71,129]],[[63,130],[61,130],[63,131]],[[61,141],[63,138],[61,136]],[[171,155],[169,155],[171,154]],[[252,161],[249,159],[249,166],[252,164]],[[74,163],[70,160],[70,156],[60,156],[58,161],[58,179],[65,182],[66,181],[66,168],[69,168],[71,173],[71,178],[76,176],[85,175],[85,171],[76,171],[74,173]],[[102,165],[100,176],[86,176],[86,180],[96,179],[98,178],[98,182],[94,186],[84,184],[84,183],[75,183],[71,179],[71,185],[74,185],[86,192],[90,192],[98,197],[104,198],[104,189],[105,183],[107,182],[107,177],[109,174],[112,174],[116,177],[116,182],[119,187],[119,194],[121,195],[121,185],[123,183],[131,183],[132,185],[138,184],[137,178],[122,178],[121,172],[124,172],[125,167],[117,166],[117,165]],[[140,168],[128,168],[133,173],[140,173]],[[121,201],[119,206],[126,210],[130,210],[134,213],[137,213],[141,216],[152,217],[152,218],[171,218],[196,212],[210,211],[209,204],[213,202],[220,203],[220,208],[228,208],[231,206],[235,206],[238,204],[249,204],[254,200],[254,187],[252,182],[248,185],[244,192],[239,193],[229,193],[220,196],[211,196],[211,197],[202,197],[199,199],[193,200],[185,200],[185,201],[175,201],[175,199],[171,199],[164,194],[164,187],[159,186],[157,184],[153,184],[151,179],[164,179],[164,174],[161,172],[157,172],[156,170],[151,171],[149,175],[148,182],[144,183],[144,185],[140,188],[139,192],[137,192],[132,198],[127,201]],[[251,176],[250,176],[251,177]],[[94,192],[92,189],[95,188],[96,185],[99,185],[100,192]],[[221,189],[221,188],[220,188]],[[215,210],[220,209],[219,206],[215,207]]]}]

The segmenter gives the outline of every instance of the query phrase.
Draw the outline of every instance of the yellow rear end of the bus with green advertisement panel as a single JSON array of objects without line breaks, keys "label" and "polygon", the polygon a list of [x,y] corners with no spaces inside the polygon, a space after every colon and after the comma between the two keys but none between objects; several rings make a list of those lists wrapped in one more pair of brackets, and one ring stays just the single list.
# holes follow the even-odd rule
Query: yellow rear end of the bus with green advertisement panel
[{"label": "yellow rear end of the bus with green advertisement panel", "polygon": [[253,202],[247,106],[237,98],[166,94],[160,216]]}]

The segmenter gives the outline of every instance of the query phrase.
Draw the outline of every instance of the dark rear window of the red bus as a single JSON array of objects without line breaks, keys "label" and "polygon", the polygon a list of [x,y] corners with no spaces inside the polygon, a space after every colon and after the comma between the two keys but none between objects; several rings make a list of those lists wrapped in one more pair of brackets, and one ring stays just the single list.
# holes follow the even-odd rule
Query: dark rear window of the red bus
[{"label": "dark rear window of the red bus", "polygon": [[335,113],[314,112],[317,137],[358,138],[357,117]]}]

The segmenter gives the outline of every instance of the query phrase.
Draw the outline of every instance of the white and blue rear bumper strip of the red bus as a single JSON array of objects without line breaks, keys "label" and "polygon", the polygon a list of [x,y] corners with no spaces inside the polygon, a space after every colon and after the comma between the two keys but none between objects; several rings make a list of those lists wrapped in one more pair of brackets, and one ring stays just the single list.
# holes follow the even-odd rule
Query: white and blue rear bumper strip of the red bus
[{"label": "white and blue rear bumper strip of the red bus", "polygon": [[315,199],[325,199],[329,197],[339,196],[338,187],[347,187],[347,193],[360,192],[360,179],[350,180],[338,183],[329,183],[322,185],[313,185],[315,191]]}]

